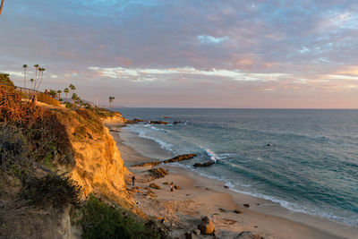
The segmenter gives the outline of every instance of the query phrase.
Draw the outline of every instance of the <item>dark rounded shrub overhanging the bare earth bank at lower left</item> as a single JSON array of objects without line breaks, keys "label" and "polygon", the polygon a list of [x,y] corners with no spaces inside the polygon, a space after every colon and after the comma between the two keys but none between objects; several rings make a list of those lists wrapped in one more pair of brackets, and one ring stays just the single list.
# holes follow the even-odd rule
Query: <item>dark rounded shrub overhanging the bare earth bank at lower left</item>
[{"label": "dark rounded shrub overhanging the bare earth bank at lower left", "polygon": [[63,209],[65,205],[81,204],[81,186],[65,175],[30,177],[22,190],[22,199],[30,205]]}]

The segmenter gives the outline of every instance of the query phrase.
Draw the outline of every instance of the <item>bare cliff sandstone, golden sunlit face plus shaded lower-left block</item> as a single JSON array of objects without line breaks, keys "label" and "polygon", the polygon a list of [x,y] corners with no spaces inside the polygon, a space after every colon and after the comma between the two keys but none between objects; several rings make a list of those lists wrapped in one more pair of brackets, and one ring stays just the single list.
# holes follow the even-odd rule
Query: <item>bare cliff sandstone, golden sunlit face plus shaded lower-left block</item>
[{"label": "bare cliff sandstone, golden sunlit face plus shaded lower-left block", "polygon": [[[143,216],[126,191],[125,176],[130,174],[107,127],[109,123],[125,122],[120,114],[101,115],[89,109],[43,107],[47,121],[61,137],[50,142],[50,158],[36,162],[34,177],[70,175],[81,185],[83,199],[90,193],[111,205],[119,205]],[[45,118],[45,116],[44,116]],[[43,120],[43,119],[41,119]],[[42,131],[45,130],[41,129]],[[61,141],[61,142],[60,142]],[[42,140],[30,141],[41,147]],[[59,145],[65,144],[61,150]],[[19,145],[21,146],[21,145]],[[64,160],[64,158],[66,158]],[[64,205],[57,210],[51,206],[35,207],[23,201],[26,180],[0,172],[0,237],[4,238],[78,238],[81,225],[72,224],[73,207]]]}]

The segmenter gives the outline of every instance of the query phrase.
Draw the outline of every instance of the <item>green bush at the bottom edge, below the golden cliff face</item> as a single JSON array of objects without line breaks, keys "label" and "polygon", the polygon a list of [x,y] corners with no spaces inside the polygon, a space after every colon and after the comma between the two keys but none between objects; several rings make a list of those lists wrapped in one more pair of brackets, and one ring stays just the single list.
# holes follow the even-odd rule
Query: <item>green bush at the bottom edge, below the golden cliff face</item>
[{"label": "green bush at the bottom edge, below the golden cliff face", "polygon": [[83,238],[160,238],[152,228],[124,209],[115,209],[93,195],[81,208]]}]

